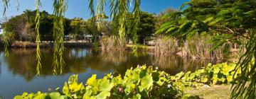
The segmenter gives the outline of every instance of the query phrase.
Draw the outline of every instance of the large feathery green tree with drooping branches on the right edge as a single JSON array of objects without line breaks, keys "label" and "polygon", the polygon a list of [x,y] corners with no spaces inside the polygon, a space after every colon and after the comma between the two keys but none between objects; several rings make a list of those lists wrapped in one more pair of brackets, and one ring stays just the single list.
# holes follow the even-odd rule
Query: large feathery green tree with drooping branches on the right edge
[{"label": "large feathery green tree with drooping branches on the right edge", "polygon": [[238,43],[245,53],[236,68],[242,74],[238,84],[233,85],[232,98],[256,98],[256,64],[250,64],[256,57],[256,1],[193,0],[181,9],[186,5],[184,10],[167,14],[172,20],[156,33],[176,37],[207,33],[213,36],[213,49],[228,42]]}]

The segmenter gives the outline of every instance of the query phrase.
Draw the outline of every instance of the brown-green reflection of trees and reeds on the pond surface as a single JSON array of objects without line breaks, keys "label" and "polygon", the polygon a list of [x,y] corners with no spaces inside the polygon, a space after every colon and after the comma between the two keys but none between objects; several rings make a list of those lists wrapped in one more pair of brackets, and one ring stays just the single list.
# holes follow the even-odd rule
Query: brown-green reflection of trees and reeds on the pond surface
[{"label": "brown-green reflection of trees and reeds on the pond surface", "polygon": [[[3,52],[3,51],[1,51]],[[42,77],[53,76],[52,62],[53,50],[41,49],[42,54]],[[9,57],[1,57],[0,61],[6,62],[9,71],[14,75],[20,75],[31,81],[36,76],[36,50],[35,49],[11,49]],[[201,66],[206,66],[207,62],[193,61],[183,59],[175,55],[162,56],[139,52],[136,55],[127,51],[108,51],[101,52],[99,50],[73,48],[64,52],[65,66],[63,74],[75,73],[81,74],[88,69],[95,71],[114,71],[124,74],[127,69],[138,64],[146,64],[147,66],[158,66],[159,69],[176,74],[179,71],[195,71]],[[0,66],[1,71],[1,66]],[[1,74],[1,73],[0,73]]]}]

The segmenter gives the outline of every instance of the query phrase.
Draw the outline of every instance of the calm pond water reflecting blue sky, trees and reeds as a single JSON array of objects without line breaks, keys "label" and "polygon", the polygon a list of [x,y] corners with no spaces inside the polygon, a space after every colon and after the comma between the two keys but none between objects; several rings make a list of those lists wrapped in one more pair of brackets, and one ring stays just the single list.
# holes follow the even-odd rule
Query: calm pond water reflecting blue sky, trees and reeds
[{"label": "calm pond water reflecting blue sky, trees and reeds", "polygon": [[79,74],[79,80],[85,82],[92,74],[100,78],[109,72],[124,74],[126,69],[137,64],[158,66],[159,69],[176,74],[179,71],[195,71],[205,66],[207,62],[192,61],[180,57],[159,56],[150,53],[131,52],[100,52],[92,49],[67,49],[64,59],[63,75],[53,76],[53,52],[43,49],[42,73],[36,76],[36,50],[11,49],[9,57],[4,57],[0,51],[0,98],[13,98],[23,92],[48,92],[48,88],[62,87],[72,74]]}]

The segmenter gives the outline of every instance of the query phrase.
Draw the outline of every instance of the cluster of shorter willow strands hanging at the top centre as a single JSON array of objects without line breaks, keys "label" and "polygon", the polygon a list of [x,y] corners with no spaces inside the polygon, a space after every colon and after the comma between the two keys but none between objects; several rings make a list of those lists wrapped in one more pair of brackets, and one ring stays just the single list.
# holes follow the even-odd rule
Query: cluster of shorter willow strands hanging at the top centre
[{"label": "cluster of shorter willow strands hanging at the top centre", "polygon": [[[105,0],[97,0],[97,15],[93,7],[94,0],[90,0],[90,11],[92,12],[92,19],[96,19],[97,28],[100,28],[101,23],[105,19],[105,6],[107,6]],[[112,25],[117,25],[114,28],[118,35],[117,40],[124,46],[124,37],[127,34],[126,18],[129,11],[132,9],[134,15],[134,22],[132,23],[132,34],[134,35],[134,43],[137,42],[137,30],[139,25],[139,11],[140,11],[140,0],[108,0],[110,6],[110,18],[112,19]],[[132,5],[134,7],[132,8]],[[95,18],[95,16],[97,18]]]}]

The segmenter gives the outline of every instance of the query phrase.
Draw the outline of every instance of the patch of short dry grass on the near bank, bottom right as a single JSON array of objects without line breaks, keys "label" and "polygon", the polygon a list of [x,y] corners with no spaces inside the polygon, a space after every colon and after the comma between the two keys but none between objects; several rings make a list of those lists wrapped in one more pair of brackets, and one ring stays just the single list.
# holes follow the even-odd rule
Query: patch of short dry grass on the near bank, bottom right
[{"label": "patch of short dry grass on the near bank, bottom right", "polygon": [[231,86],[231,84],[226,84],[204,88],[188,88],[184,92],[203,99],[229,99],[232,92]]}]

